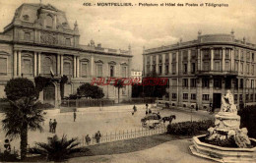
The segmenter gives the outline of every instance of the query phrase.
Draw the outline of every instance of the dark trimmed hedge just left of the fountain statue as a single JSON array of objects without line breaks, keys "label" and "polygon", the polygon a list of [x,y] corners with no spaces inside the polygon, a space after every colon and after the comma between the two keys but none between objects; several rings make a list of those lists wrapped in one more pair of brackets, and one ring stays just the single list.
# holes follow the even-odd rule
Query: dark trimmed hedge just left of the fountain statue
[{"label": "dark trimmed hedge just left of the fountain statue", "polygon": [[212,120],[175,123],[167,126],[167,134],[176,136],[195,136],[202,131],[207,131],[207,129],[212,126],[214,126]]}]

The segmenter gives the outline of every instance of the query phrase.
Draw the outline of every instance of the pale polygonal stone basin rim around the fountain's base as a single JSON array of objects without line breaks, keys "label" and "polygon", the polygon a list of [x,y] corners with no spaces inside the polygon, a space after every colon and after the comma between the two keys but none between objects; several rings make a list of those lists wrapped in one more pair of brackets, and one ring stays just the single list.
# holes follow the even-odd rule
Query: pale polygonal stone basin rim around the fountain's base
[{"label": "pale polygonal stone basin rim around the fountain's base", "polygon": [[[252,148],[222,147],[202,142],[200,138],[205,136],[193,137],[193,145],[189,148],[194,155],[226,163],[256,161],[256,146]],[[256,139],[249,139],[252,144],[256,143]]]}]

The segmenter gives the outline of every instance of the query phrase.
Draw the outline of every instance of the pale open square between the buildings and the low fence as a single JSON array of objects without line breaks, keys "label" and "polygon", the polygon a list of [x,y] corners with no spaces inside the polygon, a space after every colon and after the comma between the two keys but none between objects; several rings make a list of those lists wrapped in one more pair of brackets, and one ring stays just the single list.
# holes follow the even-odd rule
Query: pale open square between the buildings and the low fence
[{"label": "pale open square between the buildings and the low fence", "polygon": [[[138,109],[138,112],[133,116],[132,105],[131,109],[124,109],[122,111],[122,107],[124,106],[116,106],[115,109],[111,109],[111,106],[108,109],[103,108],[102,111],[99,111],[98,108],[95,108],[95,112],[77,112],[76,122],[73,122],[73,113],[58,113],[54,115],[46,114],[45,122],[43,125],[44,132],[39,133],[29,133],[29,144],[32,146],[35,141],[47,141],[47,136],[53,136],[53,134],[49,133],[49,119],[57,120],[57,136],[67,135],[68,137],[79,137],[90,135],[93,136],[97,131],[100,131],[101,135],[115,133],[115,132],[123,132],[123,131],[131,131],[131,130],[139,130],[142,128],[141,119],[145,116],[146,109],[141,107]],[[127,108],[127,106],[126,106]],[[108,111],[106,111],[108,110]],[[111,110],[111,111],[109,111]],[[171,109],[171,110],[160,110],[153,109],[153,112],[160,111],[161,117],[169,116],[171,114],[176,115],[176,119],[172,121],[172,123],[190,121],[191,115],[193,121],[210,119],[213,116],[209,115],[209,113],[204,111],[198,111],[190,113],[189,111],[179,110],[179,109]],[[166,123],[167,125],[168,123]],[[2,128],[2,126],[1,126]],[[5,133],[0,132],[0,139],[3,140],[5,138]],[[12,147],[15,146],[16,149],[19,148],[20,139],[14,139],[12,141]],[[3,146],[3,141],[0,142],[1,147]]]}]

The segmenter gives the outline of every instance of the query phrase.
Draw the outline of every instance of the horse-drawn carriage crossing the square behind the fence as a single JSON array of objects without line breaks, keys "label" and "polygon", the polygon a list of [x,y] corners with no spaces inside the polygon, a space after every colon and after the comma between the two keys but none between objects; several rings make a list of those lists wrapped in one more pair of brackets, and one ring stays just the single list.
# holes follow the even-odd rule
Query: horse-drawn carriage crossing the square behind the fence
[{"label": "horse-drawn carriage crossing the square behind the fence", "polygon": [[143,119],[141,119],[142,127],[149,129],[156,129],[161,125],[165,124],[165,122],[171,123],[172,119],[176,119],[175,115],[170,115],[169,117],[160,118],[160,114],[153,113],[146,115]]}]

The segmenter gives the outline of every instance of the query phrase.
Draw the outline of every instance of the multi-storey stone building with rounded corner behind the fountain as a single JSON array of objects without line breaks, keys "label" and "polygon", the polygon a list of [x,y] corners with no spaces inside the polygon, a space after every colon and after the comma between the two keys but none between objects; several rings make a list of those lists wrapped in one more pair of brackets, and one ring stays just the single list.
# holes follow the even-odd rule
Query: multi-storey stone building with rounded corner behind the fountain
[{"label": "multi-storey stone building with rounded corner behind the fountain", "polygon": [[237,106],[256,104],[256,45],[230,34],[198,33],[196,40],[144,49],[144,76],[155,71],[169,79],[172,106],[221,107],[226,89]]}]

